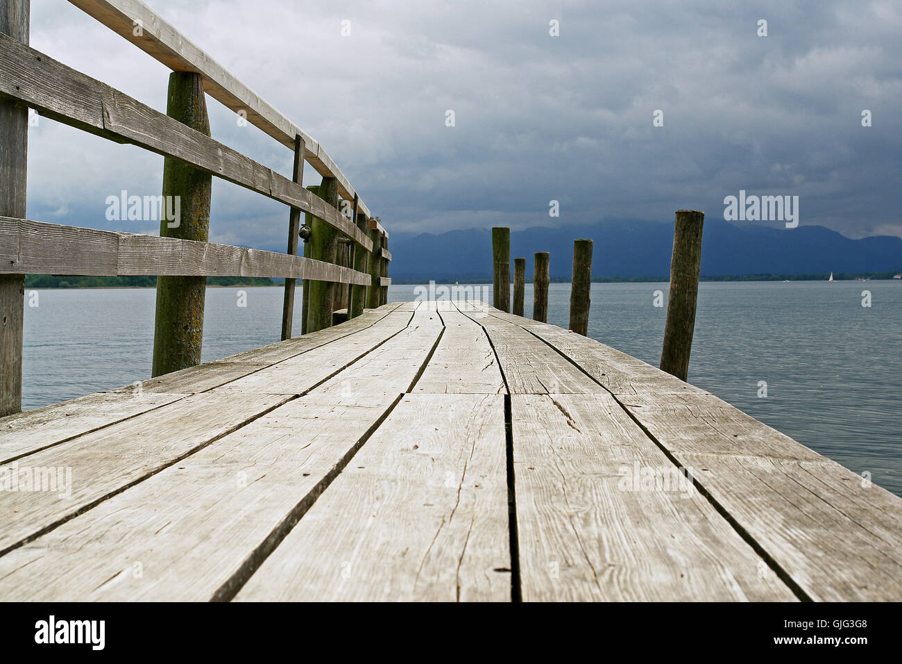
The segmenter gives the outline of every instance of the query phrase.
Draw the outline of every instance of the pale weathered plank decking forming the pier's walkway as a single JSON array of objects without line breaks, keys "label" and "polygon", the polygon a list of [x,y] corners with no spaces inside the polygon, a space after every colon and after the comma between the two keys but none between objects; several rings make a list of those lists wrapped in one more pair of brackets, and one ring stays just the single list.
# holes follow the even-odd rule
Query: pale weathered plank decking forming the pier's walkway
[{"label": "pale weathered plank decking forming the pier's walkway", "polygon": [[482,303],[8,416],[0,462],[70,471],[0,491],[5,601],[902,599],[902,500]]}]

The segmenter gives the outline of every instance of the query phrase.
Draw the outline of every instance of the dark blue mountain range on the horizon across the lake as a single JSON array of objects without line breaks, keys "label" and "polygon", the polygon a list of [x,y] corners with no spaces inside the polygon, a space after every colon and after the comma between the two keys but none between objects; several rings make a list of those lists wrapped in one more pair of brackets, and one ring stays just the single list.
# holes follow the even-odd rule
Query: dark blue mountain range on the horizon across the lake
[{"label": "dark blue mountain range on the horizon across the lake", "polygon": [[[511,230],[513,257],[550,252],[552,279],[569,279],[573,240],[594,240],[595,277],[664,277],[670,273],[673,224],[646,220],[604,220],[589,226]],[[391,277],[397,281],[492,280],[492,231],[450,230],[439,235],[393,232],[389,238]],[[512,268],[512,266],[511,266]],[[865,274],[902,271],[902,238],[851,239],[820,226],[772,229],[706,220],[702,276]]]}]

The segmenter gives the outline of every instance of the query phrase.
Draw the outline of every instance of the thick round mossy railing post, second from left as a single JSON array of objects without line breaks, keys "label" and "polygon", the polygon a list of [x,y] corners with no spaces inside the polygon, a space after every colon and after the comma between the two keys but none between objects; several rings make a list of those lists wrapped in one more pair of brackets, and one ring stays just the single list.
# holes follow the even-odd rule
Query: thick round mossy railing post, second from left
[{"label": "thick round mossy railing post, second from left", "polygon": [[[210,136],[204,79],[200,74],[192,71],[170,74],[166,115]],[[161,237],[206,242],[212,192],[212,175],[175,159],[164,159]],[[176,219],[169,218],[170,212],[175,212]],[[206,276],[157,277],[153,376],[200,364],[206,295]]]}]

